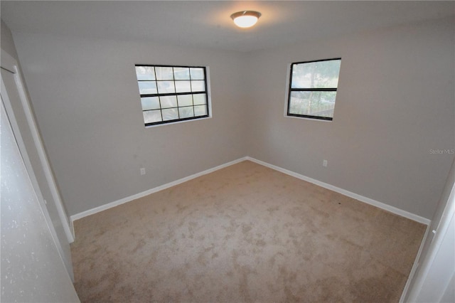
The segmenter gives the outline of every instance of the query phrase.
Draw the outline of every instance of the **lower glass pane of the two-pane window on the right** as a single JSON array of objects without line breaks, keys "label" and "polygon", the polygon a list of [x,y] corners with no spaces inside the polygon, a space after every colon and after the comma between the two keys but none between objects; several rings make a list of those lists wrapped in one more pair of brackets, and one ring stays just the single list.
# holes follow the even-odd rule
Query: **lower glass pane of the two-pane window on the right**
[{"label": "lower glass pane of the two-pane window on the right", "polygon": [[336,92],[291,92],[289,114],[333,117]]}]

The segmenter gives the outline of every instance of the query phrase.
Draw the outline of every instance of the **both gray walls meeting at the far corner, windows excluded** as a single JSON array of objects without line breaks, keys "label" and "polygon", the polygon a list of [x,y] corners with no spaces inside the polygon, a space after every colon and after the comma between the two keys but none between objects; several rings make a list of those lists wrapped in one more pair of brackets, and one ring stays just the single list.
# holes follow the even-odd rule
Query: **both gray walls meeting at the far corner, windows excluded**
[{"label": "both gray walls meeting at the far corner, windows excluded", "polygon": [[[453,20],[253,53],[14,40],[70,215],[248,155],[432,218],[454,158],[430,154],[455,148]],[[289,63],[334,57],[333,122],[284,117]],[[145,129],[134,63],[208,65],[213,118]]]}]

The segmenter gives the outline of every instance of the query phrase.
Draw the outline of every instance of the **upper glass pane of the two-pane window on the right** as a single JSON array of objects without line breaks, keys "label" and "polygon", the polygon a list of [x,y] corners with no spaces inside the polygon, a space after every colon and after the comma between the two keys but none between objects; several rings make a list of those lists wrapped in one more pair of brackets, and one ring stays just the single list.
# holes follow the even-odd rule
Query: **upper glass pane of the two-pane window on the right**
[{"label": "upper glass pane of the two-pane window on the right", "polygon": [[292,88],[326,88],[338,86],[341,60],[292,65]]}]

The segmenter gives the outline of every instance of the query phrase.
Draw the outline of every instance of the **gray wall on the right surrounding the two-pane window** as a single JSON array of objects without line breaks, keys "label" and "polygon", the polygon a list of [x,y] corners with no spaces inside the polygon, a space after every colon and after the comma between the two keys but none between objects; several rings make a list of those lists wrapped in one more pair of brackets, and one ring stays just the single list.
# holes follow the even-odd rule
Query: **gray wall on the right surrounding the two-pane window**
[{"label": "gray wall on the right surrounding the two-pane window", "polygon": [[[248,155],[432,218],[454,159],[454,28],[444,19],[250,53]],[[333,122],[284,117],[290,63],[338,57]]]}]

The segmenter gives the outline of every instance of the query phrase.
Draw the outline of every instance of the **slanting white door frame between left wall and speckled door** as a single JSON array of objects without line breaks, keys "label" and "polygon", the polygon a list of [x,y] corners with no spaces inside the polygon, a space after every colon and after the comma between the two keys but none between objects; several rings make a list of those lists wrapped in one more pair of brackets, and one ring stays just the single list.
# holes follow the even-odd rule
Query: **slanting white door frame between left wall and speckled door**
[{"label": "slanting white door frame between left wall and speckled door", "polygon": [[68,216],[60,198],[47,156],[23,90],[17,63],[1,50],[1,100],[11,122],[11,128],[26,165],[28,176],[48,222],[50,233],[60,257],[73,280],[70,243],[73,242]]}]

